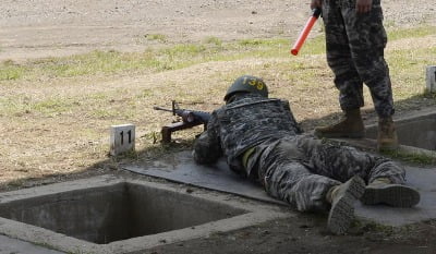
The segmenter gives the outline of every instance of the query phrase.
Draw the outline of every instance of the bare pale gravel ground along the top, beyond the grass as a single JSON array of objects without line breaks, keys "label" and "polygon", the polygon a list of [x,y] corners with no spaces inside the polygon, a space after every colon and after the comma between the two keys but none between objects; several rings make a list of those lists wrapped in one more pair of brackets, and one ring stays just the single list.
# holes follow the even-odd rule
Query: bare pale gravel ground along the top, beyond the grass
[{"label": "bare pale gravel ground along the top, beyond the grass", "polygon": [[[168,43],[283,36],[310,13],[296,0],[3,0],[0,60],[65,56],[93,49],[143,50]],[[383,1],[386,25],[435,24],[433,1]]]}]

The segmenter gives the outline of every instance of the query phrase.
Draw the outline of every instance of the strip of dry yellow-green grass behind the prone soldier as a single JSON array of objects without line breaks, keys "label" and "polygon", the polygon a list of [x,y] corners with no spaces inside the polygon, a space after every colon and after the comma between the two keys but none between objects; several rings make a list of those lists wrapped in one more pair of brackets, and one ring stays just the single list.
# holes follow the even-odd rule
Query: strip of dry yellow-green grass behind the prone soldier
[{"label": "strip of dry yellow-green grass behind the prone soldier", "polygon": [[[423,88],[424,66],[436,55],[435,34],[399,38],[387,50],[399,112],[434,105]],[[215,43],[213,47],[227,50],[170,70],[143,66],[50,76],[35,68],[40,63],[20,65],[32,69],[31,74],[0,82],[0,183],[20,185],[23,179],[100,172],[123,160],[147,160],[186,148],[201,129],[179,132],[178,143],[164,147],[156,142],[160,128],[174,118],[153,107],[170,107],[175,99],[182,107],[210,111],[221,105],[228,85],[246,73],[264,77],[271,96],[289,99],[306,130],[338,117],[338,94],[325,56],[317,51],[319,45],[307,46],[295,58],[288,55],[287,45],[271,51],[262,48],[262,41],[244,44],[251,48],[241,53],[234,45]],[[307,55],[311,49],[315,51]],[[373,106],[365,93],[371,119]],[[121,123],[136,124],[137,153],[109,158],[109,128]]]}]

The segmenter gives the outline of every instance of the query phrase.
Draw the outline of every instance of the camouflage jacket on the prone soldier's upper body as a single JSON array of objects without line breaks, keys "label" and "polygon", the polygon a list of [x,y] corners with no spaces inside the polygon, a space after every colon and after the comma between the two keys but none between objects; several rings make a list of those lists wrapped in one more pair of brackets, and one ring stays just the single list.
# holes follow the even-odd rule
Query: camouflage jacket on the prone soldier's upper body
[{"label": "camouflage jacket on the prone soldier's upper body", "polygon": [[245,150],[266,140],[299,133],[288,100],[246,94],[211,113],[207,130],[195,142],[194,159],[213,164],[225,155],[229,167],[243,173],[241,156]]}]

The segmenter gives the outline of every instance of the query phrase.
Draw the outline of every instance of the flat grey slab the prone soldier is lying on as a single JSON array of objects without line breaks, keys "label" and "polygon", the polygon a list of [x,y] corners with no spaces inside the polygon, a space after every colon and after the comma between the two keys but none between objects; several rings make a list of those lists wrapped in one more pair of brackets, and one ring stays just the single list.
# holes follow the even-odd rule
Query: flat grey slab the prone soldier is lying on
[{"label": "flat grey slab the prone soldier is lying on", "polygon": [[[155,161],[150,165],[125,165],[125,170],[192,184],[205,189],[232,193],[258,201],[284,205],[269,197],[259,185],[233,173],[223,160],[214,167],[198,166],[189,152],[173,155],[171,164]],[[387,206],[364,206],[358,204],[356,215],[363,219],[388,226],[402,226],[436,218],[436,168],[405,166],[408,184],[421,193],[421,202],[413,208],[392,208]]]}]

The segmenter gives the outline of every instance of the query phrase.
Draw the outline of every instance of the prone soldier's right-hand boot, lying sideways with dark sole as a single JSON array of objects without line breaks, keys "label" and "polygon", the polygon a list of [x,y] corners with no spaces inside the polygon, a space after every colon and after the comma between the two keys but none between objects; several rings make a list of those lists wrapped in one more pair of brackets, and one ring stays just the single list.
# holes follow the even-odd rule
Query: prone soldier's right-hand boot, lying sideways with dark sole
[{"label": "prone soldier's right-hand boot, lying sideways with dark sole", "polygon": [[395,207],[412,207],[420,202],[420,193],[411,186],[391,183],[378,178],[370,183],[362,196],[365,205],[385,204]]}]

